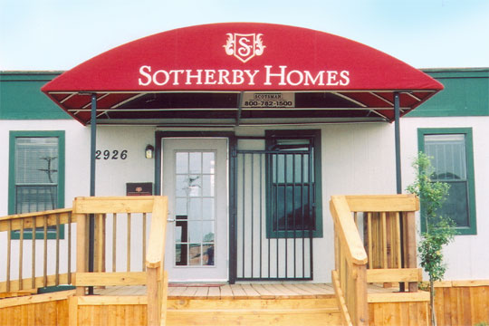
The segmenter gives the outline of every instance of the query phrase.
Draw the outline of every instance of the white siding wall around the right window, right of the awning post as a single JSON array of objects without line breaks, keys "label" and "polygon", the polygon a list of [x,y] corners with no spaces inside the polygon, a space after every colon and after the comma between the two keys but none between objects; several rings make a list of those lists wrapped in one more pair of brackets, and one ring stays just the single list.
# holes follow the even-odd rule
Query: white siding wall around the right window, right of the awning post
[{"label": "white siding wall around the right window, right of the awning post", "polygon": [[[445,249],[446,280],[487,279],[489,271],[489,117],[409,118],[401,120],[403,185],[412,183],[418,128],[470,128],[474,139],[477,235],[456,235]],[[418,223],[419,225],[419,223]]]}]

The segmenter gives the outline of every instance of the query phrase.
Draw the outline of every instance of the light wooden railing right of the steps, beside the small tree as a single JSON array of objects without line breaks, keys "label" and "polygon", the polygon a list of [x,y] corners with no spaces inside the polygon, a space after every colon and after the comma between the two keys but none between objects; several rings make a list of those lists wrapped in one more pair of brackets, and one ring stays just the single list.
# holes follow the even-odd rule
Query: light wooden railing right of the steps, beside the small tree
[{"label": "light wooden railing right of the steps, beside the small tree", "polygon": [[401,283],[400,289],[407,283],[409,292],[417,292],[419,201],[412,195],[333,196],[330,208],[335,233],[332,282],[343,323],[366,325],[368,283]]}]

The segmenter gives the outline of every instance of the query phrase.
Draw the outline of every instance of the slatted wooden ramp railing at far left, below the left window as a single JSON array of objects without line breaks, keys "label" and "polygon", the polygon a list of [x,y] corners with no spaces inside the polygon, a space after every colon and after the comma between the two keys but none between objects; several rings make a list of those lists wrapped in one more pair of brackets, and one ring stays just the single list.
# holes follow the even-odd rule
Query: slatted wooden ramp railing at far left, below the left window
[{"label": "slatted wooden ramp railing at far left, below the left window", "polygon": [[75,222],[72,209],[0,217],[0,236],[6,249],[2,253],[5,278],[0,282],[0,297],[71,284]]}]

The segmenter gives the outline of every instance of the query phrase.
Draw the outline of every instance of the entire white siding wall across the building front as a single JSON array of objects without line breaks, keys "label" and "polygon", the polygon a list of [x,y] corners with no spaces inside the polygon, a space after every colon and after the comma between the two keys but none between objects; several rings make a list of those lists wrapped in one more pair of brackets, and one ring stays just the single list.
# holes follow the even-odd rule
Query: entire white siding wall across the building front
[{"label": "entire white siding wall across the building front", "polygon": [[[458,235],[446,249],[446,279],[486,279],[489,270],[489,117],[474,118],[405,118],[401,120],[403,189],[413,180],[411,162],[417,154],[417,128],[472,127],[474,132],[475,195],[478,235]],[[90,128],[73,120],[9,120],[0,121],[0,139],[5,155],[0,159],[0,216],[7,215],[8,204],[8,139],[9,130],[66,130],[65,206],[73,197],[88,196],[90,184]],[[292,129],[291,127],[267,129]],[[386,194],[396,192],[394,125],[388,123],[331,124],[305,126],[321,129],[323,237],[314,240],[314,281],[330,282],[334,267],[333,232],[329,211],[331,195]],[[154,144],[154,127],[100,126],[97,148],[110,151],[128,150],[128,158],[101,159],[97,163],[97,196],[123,196],[127,182],[154,182],[154,159],[144,158],[146,145]],[[237,135],[263,136],[264,127],[237,127]],[[107,229],[111,229],[108,219]],[[136,223],[136,222],[135,222]],[[118,225],[124,233],[126,225]],[[133,228],[139,228],[136,223]],[[74,232],[74,230],[73,230]],[[139,235],[133,238],[139,244]],[[6,235],[0,236],[5,248]],[[110,252],[110,242],[107,250]],[[125,248],[125,245],[120,244]],[[138,246],[138,245],[136,245]],[[63,250],[63,249],[62,249]],[[65,250],[65,249],[64,249]],[[135,249],[137,250],[137,249]],[[136,251],[134,252],[136,254]],[[29,260],[29,254],[24,257]],[[134,258],[139,266],[140,259]],[[13,262],[14,263],[14,262]],[[26,262],[25,273],[30,273]],[[74,264],[74,262],[73,262]],[[110,262],[108,263],[110,264]],[[118,265],[124,265],[119,259]],[[42,266],[42,264],[38,264]],[[107,266],[111,270],[111,266]],[[62,266],[62,271],[65,266]],[[14,272],[14,271],[13,271]],[[62,272],[63,273],[63,272]],[[25,274],[26,275],[26,274]],[[25,276],[24,275],[24,276]],[[12,277],[14,278],[14,274]],[[0,280],[5,271],[0,268]]]}]

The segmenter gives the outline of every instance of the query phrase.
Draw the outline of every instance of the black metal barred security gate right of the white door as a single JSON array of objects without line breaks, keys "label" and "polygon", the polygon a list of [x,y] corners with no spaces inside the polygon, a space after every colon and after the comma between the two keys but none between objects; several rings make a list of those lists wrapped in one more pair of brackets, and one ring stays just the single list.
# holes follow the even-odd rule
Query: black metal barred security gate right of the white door
[{"label": "black metal barred security gate right of the white door", "polygon": [[264,139],[236,145],[230,165],[231,282],[312,280],[312,146],[267,150]]}]

